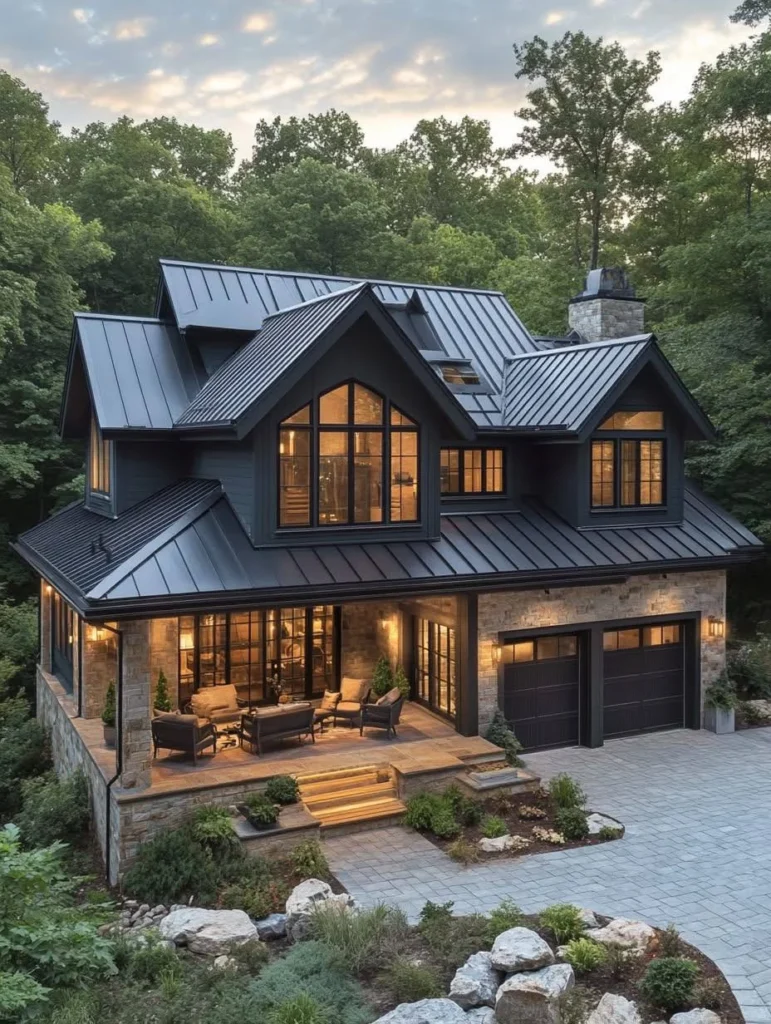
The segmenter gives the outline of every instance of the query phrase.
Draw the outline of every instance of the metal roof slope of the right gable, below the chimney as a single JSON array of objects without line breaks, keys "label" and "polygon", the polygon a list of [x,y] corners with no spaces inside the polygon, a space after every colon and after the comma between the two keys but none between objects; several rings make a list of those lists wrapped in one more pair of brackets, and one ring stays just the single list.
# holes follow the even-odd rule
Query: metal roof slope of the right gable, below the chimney
[{"label": "metal roof slope of the right gable, below the chimney", "polygon": [[652,344],[652,335],[641,335],[510,359],[504,391],[505,426],[581,430],[597,406]]}]

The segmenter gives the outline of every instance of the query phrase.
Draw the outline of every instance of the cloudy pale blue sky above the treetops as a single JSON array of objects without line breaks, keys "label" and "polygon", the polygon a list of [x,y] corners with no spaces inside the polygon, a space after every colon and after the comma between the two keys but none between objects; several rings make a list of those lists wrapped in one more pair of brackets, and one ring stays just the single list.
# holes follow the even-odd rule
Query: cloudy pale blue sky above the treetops
[{"label": "cloudy pale blue sky above the treetops", "polygon": [[65,128],[176,116],[232,133],[345,110],[370,145],[421,118],[469,114],[509,144],[526,86],[512,44],[583,29],[661,53],[655,99],[684,98],[699,65],[751,30],[738,0],[0,0],[0,68],[40,90]]}]

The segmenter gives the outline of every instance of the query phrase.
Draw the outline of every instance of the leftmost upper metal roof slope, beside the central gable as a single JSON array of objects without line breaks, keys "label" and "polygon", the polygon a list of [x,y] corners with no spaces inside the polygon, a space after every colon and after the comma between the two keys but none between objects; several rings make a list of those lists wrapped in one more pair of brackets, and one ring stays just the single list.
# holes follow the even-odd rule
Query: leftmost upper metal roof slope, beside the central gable
[{"label": "leftmost upper metal roof slope, beside the central gable", "polygon": [[173,325],[76,313],[75,329],[99,427],[171,429],[199,388]]}]

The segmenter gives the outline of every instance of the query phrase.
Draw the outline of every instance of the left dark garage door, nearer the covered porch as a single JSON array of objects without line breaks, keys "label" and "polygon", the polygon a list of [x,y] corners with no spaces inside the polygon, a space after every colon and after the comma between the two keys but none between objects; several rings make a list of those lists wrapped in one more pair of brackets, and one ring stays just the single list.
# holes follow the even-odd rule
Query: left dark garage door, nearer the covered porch
[{"label": "left dark garage door, nearer the covered porch", "polygon": [[538,637],[510,644],[504,715],[526,751],[579,742],[579,638]]}]

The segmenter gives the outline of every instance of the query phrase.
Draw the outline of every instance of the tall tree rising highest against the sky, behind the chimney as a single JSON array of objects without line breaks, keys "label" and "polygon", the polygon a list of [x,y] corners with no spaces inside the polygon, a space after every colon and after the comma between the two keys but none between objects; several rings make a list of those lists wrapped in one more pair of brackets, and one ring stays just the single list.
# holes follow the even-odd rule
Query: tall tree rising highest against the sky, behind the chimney
[{"label": "tall tree rising highest against the sky, behind the chimney", "polygon": [[618,43],[568,32],[551,46],[536,36],[515,45],[517,78],[542,82],[528,106],[514,157],[548,157],[585,198],[590,266],[599,264],[603,229],[623,199],[636,122],[660,74],[659,56],[630,59]]}]

